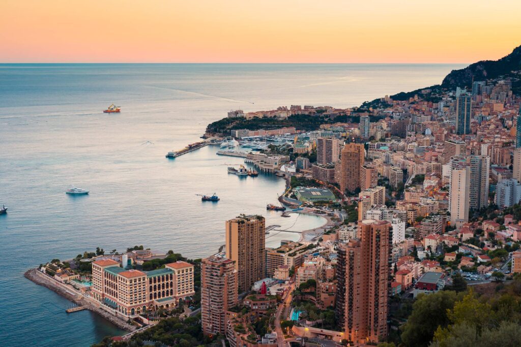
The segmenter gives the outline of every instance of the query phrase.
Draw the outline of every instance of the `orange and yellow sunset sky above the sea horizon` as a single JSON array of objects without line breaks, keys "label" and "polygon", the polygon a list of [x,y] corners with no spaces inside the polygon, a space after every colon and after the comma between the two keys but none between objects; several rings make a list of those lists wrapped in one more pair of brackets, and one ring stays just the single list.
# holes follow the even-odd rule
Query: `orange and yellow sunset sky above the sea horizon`
[{"label": "orange and yellow sunset sky above the sea horizon", "polygon": [[520,0],[0,0],[0,62],[470,63]]}]

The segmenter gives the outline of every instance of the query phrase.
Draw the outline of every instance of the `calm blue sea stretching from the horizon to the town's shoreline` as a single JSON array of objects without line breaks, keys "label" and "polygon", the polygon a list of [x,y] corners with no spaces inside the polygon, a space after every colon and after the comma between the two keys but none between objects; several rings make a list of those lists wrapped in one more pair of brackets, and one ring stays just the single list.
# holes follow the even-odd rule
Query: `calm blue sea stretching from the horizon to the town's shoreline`
[{"label": "calm blue sea stretching from the horizon to the town's shoreline", "polygon": [[[348,107],[440,83],[452,65],[0,65],[0,302],[3,346],[88,346],[120,329],[23,278],[26,269],[96,247],[134,245],[190,258],[215,253],[224,222],[263,214],[290,230],[311,216],[267,213],[272,175],[228,175],[241,159],[205,147],[175,160],[230,109]],[[120,114],[101,111],[115,103]],[[70,197],[70,185],[89,189]],[[195,194],[217,192],[202,203]],[[268,246],[298,234],[271,234]]]}]

